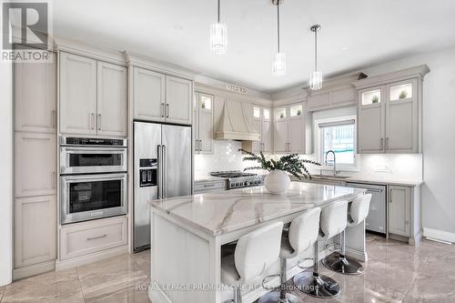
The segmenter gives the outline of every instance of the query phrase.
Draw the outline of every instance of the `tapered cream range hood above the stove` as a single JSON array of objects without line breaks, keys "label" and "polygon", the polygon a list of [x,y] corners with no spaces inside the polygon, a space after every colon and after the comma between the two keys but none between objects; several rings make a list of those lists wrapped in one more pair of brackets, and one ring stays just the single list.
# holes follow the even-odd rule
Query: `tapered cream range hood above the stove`
[{"label": "tapered cream range hood above the stove", "polygon": [[223,112],[215,131],[215,139],[259,141],[260,135],[248,119],[246,104],[225,100]]}]

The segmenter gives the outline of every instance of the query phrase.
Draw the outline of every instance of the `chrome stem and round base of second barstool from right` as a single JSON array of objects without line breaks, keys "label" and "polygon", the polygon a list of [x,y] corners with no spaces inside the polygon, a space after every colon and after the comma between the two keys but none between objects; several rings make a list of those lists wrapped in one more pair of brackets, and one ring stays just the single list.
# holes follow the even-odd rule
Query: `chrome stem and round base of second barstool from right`
[{"label": "chrome stem and round base of second barstool from right", "polygon": [[294,277],[296,287],[309,296],[316,298],[334,298],[339,295],[339,284],[332,278],[319,275],[319,247],[314,245],[313,272],[304,271]]}]

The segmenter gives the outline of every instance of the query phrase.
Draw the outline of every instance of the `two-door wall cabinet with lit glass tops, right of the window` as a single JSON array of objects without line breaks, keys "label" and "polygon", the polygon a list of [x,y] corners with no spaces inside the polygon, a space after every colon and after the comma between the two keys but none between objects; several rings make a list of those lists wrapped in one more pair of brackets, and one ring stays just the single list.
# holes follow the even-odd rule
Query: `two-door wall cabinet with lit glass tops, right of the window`
[{"label": "two-door wall cabinet with lit glass tops, right of the window", "polygon": [[418,153],[418,78],[359,90],[359,153]]}]

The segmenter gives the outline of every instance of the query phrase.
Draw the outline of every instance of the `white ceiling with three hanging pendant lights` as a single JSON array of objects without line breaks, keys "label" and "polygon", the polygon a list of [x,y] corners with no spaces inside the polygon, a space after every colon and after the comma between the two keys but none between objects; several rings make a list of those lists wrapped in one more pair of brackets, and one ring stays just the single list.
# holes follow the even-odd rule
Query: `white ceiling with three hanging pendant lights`
[{"label": "white ceiling with three hanging pendant lights", "polygon": [[268,0],[221,0],[228,34],[223,56],[208,45],[217,0],[56,0],[53,11],[57,36],[134,51],[266,93],[308,81],[310,25],[322,25],[324,76],[455,45],[455,1],[284,0],[281,49],[288,71],[277,77],[271,72],[277,11]]}]

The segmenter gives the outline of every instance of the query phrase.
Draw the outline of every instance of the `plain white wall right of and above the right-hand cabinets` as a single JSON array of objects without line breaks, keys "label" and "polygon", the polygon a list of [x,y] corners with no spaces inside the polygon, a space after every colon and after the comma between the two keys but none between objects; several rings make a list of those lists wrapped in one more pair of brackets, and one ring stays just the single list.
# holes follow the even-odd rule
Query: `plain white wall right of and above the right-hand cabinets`
[{"label": "plain white wall right of and above the right-hand cabinets", "polygon": [[455,238],[455,47],[374,66],[379,75],[427,64],[423,86],[423,227],[452,233]]}]

